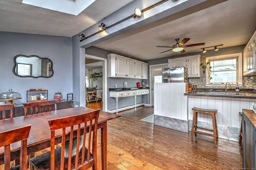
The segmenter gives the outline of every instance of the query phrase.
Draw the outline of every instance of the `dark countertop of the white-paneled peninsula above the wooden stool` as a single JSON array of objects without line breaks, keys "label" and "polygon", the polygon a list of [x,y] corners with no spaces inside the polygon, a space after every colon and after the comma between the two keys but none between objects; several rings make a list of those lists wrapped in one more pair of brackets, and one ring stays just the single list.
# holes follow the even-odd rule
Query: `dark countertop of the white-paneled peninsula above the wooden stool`
[{"label": "dark countertop of the white-paneled peninsula above the wooden stool", "polygon": [[255,89],[240,89],[235,91],[234,89],[229,89],[225,91],[224,89],[198,89],[191,90],[188,93],[185,93],[188,96],[210,96],[210,97],[224,97],[224,98],[252,98],[256,99],[256,90]]}]

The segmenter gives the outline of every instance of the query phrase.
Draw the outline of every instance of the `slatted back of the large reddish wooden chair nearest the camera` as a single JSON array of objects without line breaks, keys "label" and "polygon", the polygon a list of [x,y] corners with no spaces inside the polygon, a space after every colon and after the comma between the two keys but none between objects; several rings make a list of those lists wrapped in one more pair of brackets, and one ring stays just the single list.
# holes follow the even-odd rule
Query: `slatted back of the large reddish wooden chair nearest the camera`
[{"label": "slatted back of the large reddish wooden chair nearest the camera", "polygon": [[[63,117],[58,119],[50,119],[48,120],[48,123],[50,125],[51,130],[51,153],[50,153],[50,169],[54,170],[55,168],[55,150],[54,145],[55,144],[55,130],[62,129],[62,149],[61,149],[61,158],[60,158],[60,169],[63,169],[64,166],[66,167],[66,164],[68,164],[68,170],[71,168],[77,169],[81,168],[82,166],[90,167],[94,165],[94,167],[97,167],[97,129],[98,129],[98,117],[99,117],[100,109],[96,111],[90,111],[88,113],[82,113],[80,115],[70,116],[70,117]],[[94,120],[94,121],[93,121]],[[88,122],[90,122],[90,125],[88,127]],[[81,126],[81,124],[83,126]],[[73,140],[69,140],[69,152],[68,152],[68,158],[64,158],[64,152],[65,152],[65,142],[66,142],[66,128],[70,127],[70,137],[69,139],[74,139],[76,137],[76,154],[74,159],[72,157],[72,146],[73,146]],[[82,128],[81,128],[82,127]],[[83,133],[81,133],[83,132]],[[93,132],[93,137],[91,133]],[[86,144],[86,134],[88,134],[88,142]],[[83,135],[83,136],[82,136]],[[80,137],[82,137],[82,153],[79,149],[80,147]],[[90,141],[92,137],[92,154],[90,153]],[[86,148],[87,146],[87,148]],[[87,152],[86,152],[87,150]],[[86,153],[86,154],[85,154]],[[84,161],[84,158],[87,157],[86,161]],[[88,164],[89,163],[89,164]],[[88,164],[88,165],[86,165]],[[83,167],[84,168],[84,167]]]}]

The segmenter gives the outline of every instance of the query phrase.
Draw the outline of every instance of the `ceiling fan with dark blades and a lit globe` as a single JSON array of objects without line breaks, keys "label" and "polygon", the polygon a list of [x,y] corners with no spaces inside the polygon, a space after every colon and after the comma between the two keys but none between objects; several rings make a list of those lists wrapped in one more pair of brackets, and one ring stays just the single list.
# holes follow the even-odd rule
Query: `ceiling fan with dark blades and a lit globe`
[{"label": "ceiling fan with dark blades and a lit globe", "polygon": [[[172,45],[172,47],[168,47],[168,46],[156,46],[156,47],[168,47],[168,48],[172,48],[170,50],[172,50],[174,52],[184,53],[185,52],[185,50],[183,49],[184,47],[194,47],[194,46],[204,45],[204,43],[184,45],[186,42],[188,42],[188,40],[190,40],[190,38],[184,38],[184,39],[182,39],[182,41],[180,41],[179,38],[176,38],[175,41],[177,43]],[[179,41],[180,41],[180,43],[179,43]],[[167,51],[170,51],[170,50],[167,50]],[[166,52],[166,51],[164,51],[164,52]],[[161,53],[164,53],[164,52],[161,52]]]}]

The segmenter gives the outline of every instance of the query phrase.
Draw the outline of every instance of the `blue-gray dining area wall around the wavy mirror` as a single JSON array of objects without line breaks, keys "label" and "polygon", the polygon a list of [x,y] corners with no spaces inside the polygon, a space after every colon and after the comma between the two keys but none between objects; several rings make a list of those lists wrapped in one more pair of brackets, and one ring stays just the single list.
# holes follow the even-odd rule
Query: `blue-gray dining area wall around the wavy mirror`
[{"label": "blue-gray dining area wall around the wavy mirror", "polygon": [[[12,72],[16,55],[38,55],[52,60],[54,75],[50,78],[21,78]],[[50,35],[0,32],[0,93],[12,89],[19,92],[20,104],[27,102],[29,89],[48,90],[48,100],[62,92],[63,99],[72,93],[72,38]]]}]

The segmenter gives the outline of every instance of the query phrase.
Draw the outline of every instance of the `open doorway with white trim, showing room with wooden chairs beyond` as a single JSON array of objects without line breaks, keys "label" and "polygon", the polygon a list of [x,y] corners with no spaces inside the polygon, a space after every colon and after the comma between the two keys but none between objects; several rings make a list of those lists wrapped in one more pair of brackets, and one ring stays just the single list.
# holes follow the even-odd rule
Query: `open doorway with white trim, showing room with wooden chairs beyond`
[{"label": "open doorway with white trim, showing room with wooden chairs beyond", "polygon": [[86,55],[85,59],[85,87],[86,87],[86,107],[93,109],[106,108],[106,59]]}]

